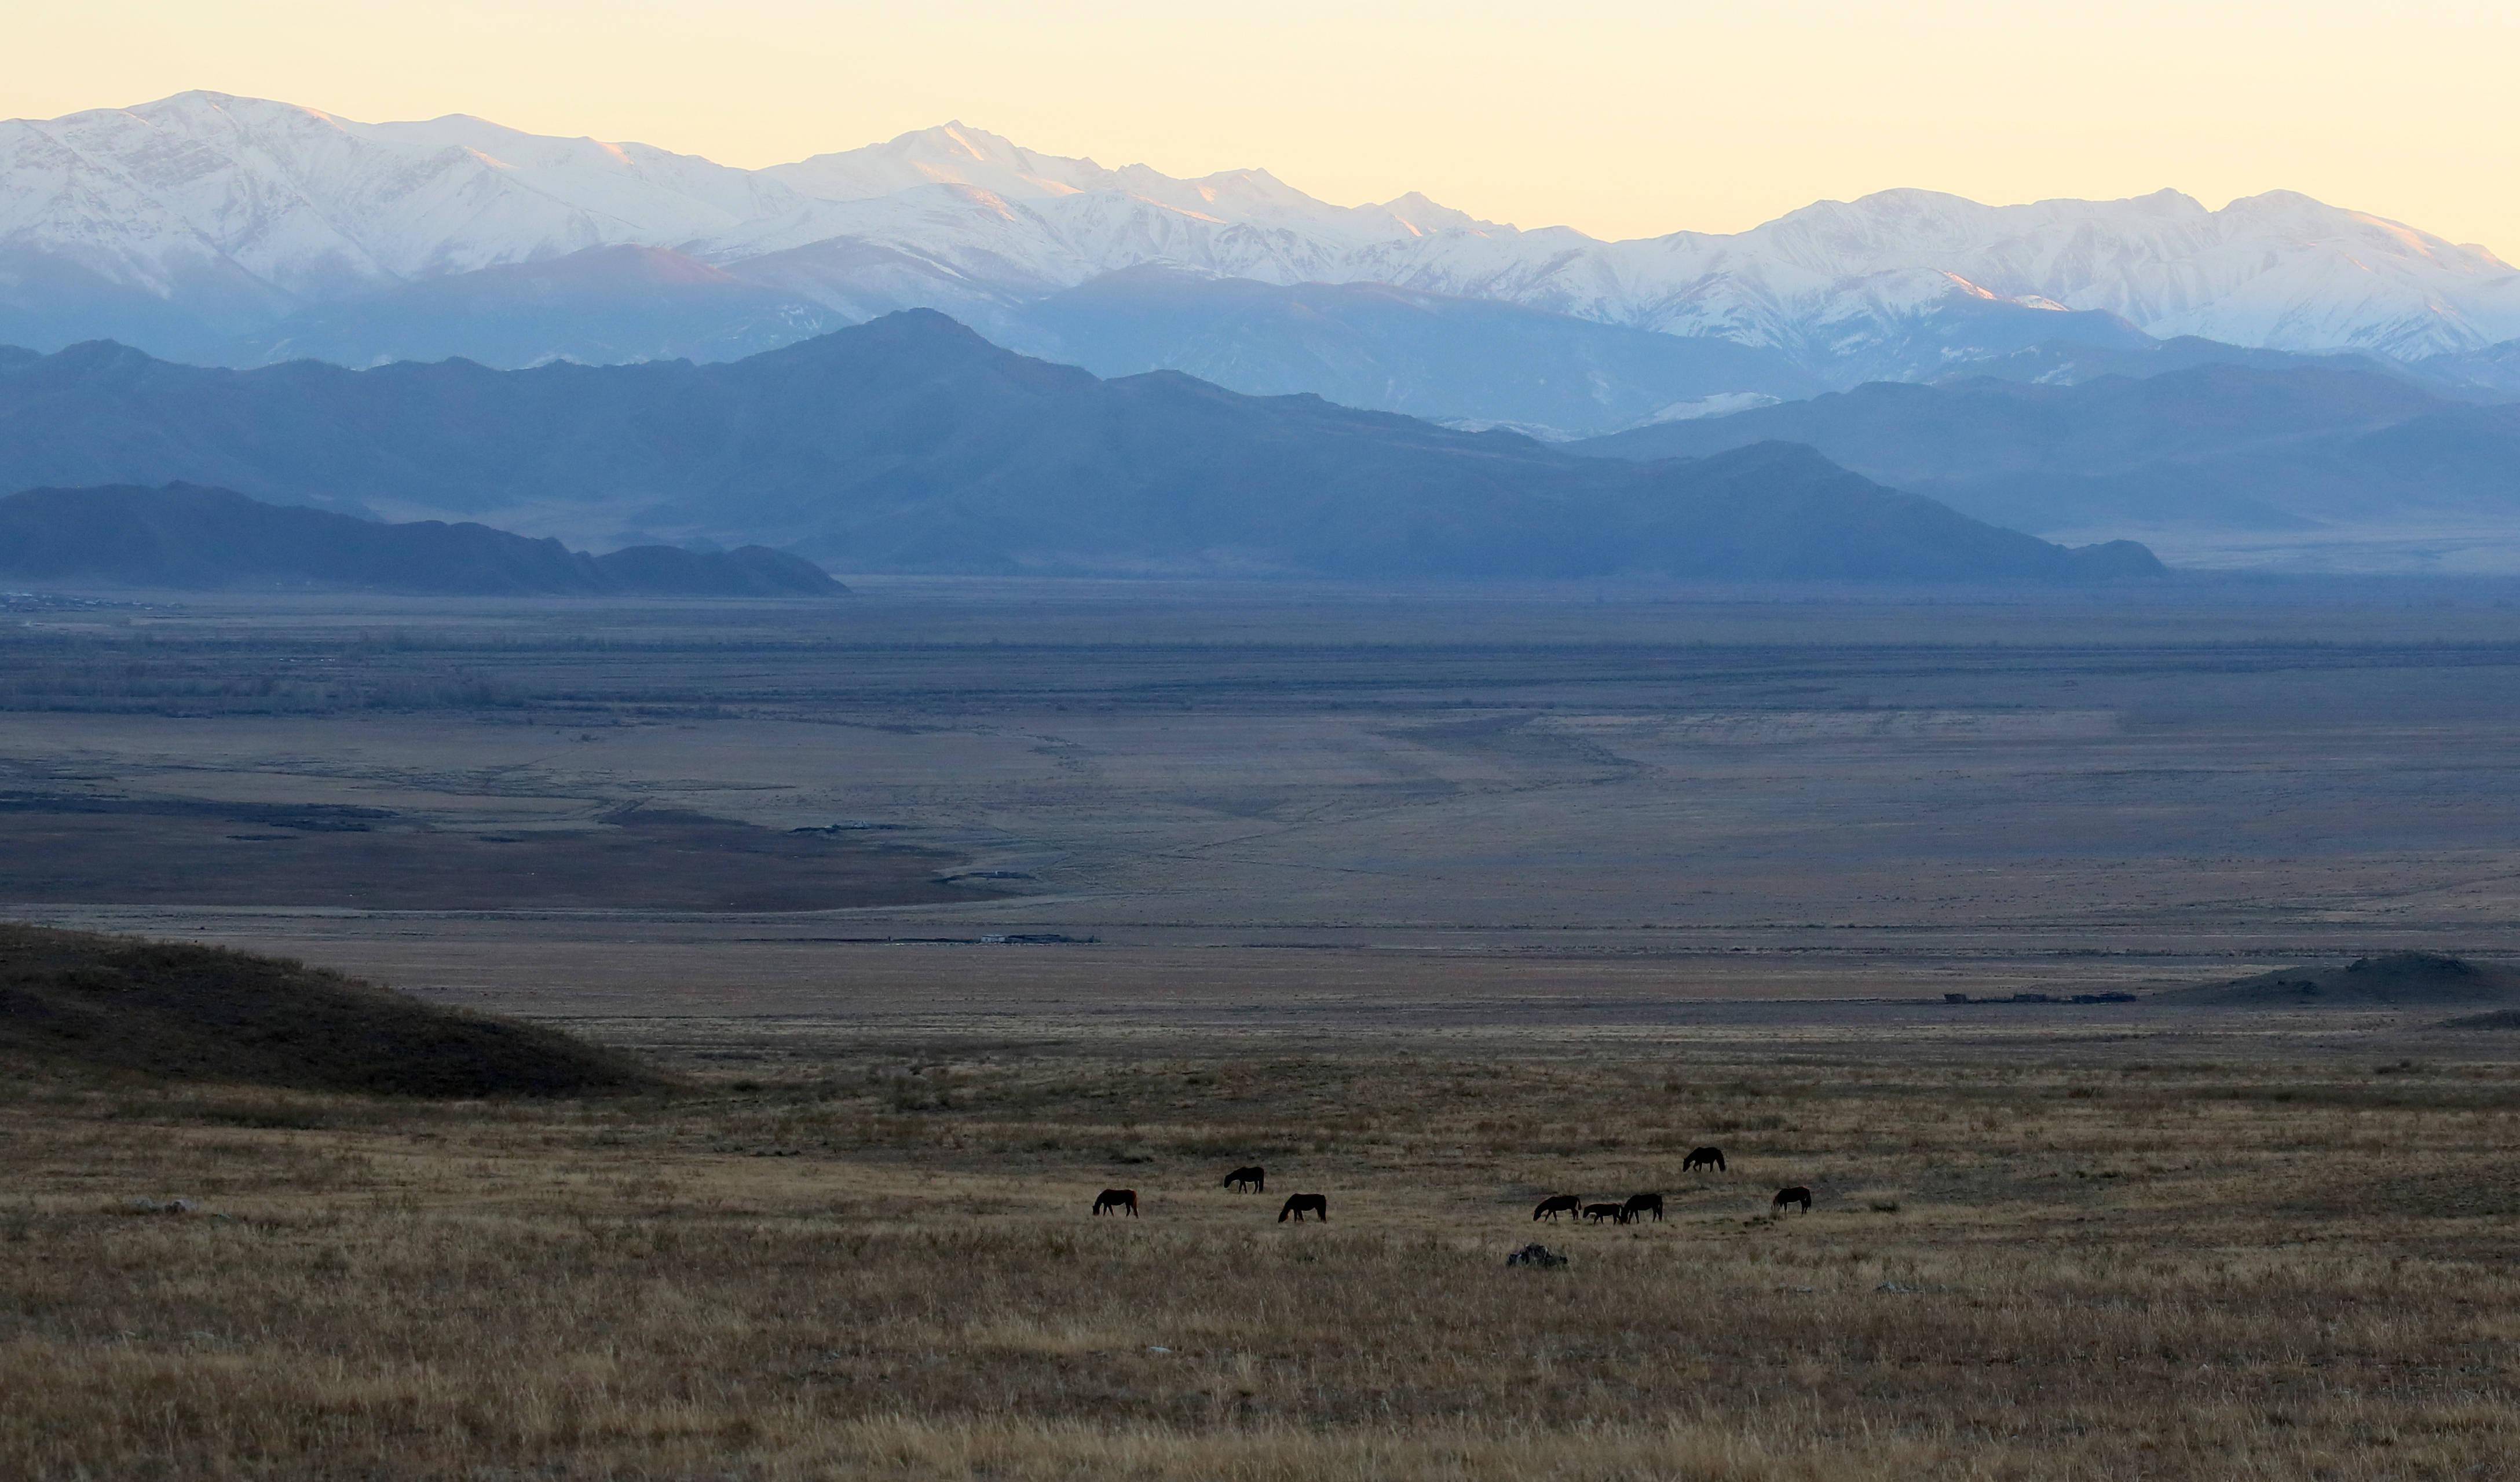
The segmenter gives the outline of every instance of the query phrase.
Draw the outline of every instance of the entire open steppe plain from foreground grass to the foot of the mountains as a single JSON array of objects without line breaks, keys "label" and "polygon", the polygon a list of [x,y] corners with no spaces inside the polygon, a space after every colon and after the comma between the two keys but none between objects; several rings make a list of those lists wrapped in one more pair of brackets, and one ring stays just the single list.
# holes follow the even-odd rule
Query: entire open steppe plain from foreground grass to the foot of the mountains
[{"label": "entire open steppe plain from foreground grass to the foot of the mountains", "polygon": [[2510,1474],[2520,1036],[1943,996],[2520,958],[2520,590],[857,587],[0,618],[10,917],[690,1084],[10,1084],[0,1469]]}]

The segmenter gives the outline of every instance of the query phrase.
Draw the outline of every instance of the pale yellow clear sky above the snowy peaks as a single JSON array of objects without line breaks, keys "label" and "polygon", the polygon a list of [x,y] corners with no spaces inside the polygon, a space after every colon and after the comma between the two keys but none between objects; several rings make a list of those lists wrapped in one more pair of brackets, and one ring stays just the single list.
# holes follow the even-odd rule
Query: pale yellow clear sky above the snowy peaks
[{"label": "pale yellow clear sky above the snowy peaks", "polygon": [[2298,189],[2520,255],[2520,0],[20,0],[0,113],[184,88],[776,164],[963,118],[1600,237],[1887,187]]}]

